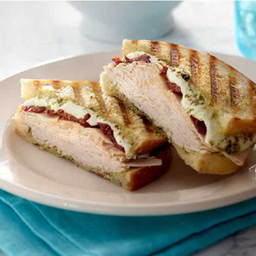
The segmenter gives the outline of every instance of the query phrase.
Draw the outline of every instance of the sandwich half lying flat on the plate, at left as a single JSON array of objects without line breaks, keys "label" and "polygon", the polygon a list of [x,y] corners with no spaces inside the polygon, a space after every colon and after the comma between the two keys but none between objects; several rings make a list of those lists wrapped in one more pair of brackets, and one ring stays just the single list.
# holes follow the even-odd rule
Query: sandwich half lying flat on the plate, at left
[{"label": "sandwich half lying flat on the plate, at left", "polygon": [[170,144],[155,127],[99,83],[22,79],[26,100],[15,131],[42,150],[122,185],[138,189],[161,176]]}]

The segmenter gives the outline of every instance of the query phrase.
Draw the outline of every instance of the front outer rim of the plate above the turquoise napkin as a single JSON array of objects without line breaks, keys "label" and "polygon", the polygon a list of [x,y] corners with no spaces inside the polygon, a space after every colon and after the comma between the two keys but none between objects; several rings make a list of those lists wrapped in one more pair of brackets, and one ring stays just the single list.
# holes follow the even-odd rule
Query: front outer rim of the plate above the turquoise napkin
[{"label": "front outer rim of the plate above the turquoise napkin", "polygon": [[[79,200],[79,199],[65,198],[58,195],[48,194],[43,191],[38,191],[36,189],[29,188],[24,185],[11,183],[3,179],[0,179],[0,186],[1,186],[0,187],[1,189],[7,191],[8,193],[24,198],[26,200],[33,201],[35,203],[44,204],[46,206],[51,206],[55,208],[65,209],[65,210],[84,212],[88,214],[110,215],[110,216],[133,216],[133,217],[189,214],[193,212],[225,207],[228,205],[236,204],[245,200],[249,200],[253,197],[256,197],[256,187],[255,187],[255,188],[250,188],[249,190],[243,191],[242,193],[240,192],[233,195],[228,195],[227,197],[224,197],[224,198],[219,196],[211,200],[204,199],[204,200],[201,200],[200,202],[194,202],[194,201],[172,202],[172,203],[159,203],[159,205],[156,205],[156,204],[114,205],[112,203],[100,203],[100,202],[91,202],[91,201],[85,201],[85,200]],[[17,189],[19,189],[18,193],[16,191]],[[35,199],[35,196],[37,195],[40,196],[40,199]],[[49,200],[49,198],[50,198],[50,202],[49,201],[46,202],[46,200]],[[228,203],[226,202],[227,200],[229,201]],[[179,209],[180,205],[185,206],[185,208],[180,210]],[[189,210],[189,206],[191,205],[193,206],[196,205],[198,207],[195,210]],[[104,206],[104,208],[102,209],[101,206]],[[144,213],[145,211],[147,212],[146,215]]]}]

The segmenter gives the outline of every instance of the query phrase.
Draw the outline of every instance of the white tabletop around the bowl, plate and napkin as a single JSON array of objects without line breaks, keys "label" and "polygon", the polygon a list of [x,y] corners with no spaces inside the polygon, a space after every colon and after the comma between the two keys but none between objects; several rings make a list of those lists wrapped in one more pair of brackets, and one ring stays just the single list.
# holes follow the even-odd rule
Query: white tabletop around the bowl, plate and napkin
[{"label": "white tabletop around the bowl, plate and napkin", "polygon": [[[242,56],[234,41],[232,1],[183,2],[173,15],[173,33],[154,40]],[[121,42],[84,36],[81,21],[81,13],[67,2],[0,2],[0,80],[49,59],[120,49]],[[194,254],[206,255],[255,256],[256,226]]]}]

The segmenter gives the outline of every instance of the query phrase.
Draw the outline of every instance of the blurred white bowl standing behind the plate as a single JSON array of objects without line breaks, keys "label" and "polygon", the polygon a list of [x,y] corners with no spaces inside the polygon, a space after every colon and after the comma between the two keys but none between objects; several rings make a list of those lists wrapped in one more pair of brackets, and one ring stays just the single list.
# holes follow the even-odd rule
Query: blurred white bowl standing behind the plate
[{"label": "blurred white bowl standing behind the plate", "polygon": [[82,31],[92,38],[154,39],[174,27],[170,11],[180,1],[69,1],[83,15]]}]

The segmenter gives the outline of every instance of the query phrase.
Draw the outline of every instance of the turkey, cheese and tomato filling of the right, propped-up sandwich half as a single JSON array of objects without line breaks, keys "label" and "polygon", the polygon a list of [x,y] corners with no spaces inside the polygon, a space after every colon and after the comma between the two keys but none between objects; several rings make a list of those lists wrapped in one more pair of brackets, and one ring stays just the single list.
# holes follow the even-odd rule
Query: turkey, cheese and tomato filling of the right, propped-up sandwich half
[{"label": "turkey, cheese and tomato filling of the right, propped-up sandwich half", "polygon": [[[153,119],[166,132],[167,136],[172,138],[174,143],[185,150],[201,153],[220,152],[237,164],[243,164],[247,154],[246,151],[256,142],[256,136],[253,134],[238,134],[236,136],[224,136],[221,134],[215,113],[204,104],[202,95],[196,93],[193,84],[189,82],[189,75],[184,70],[170,67],[166,62],[144,52],[133,52],[125,56],[123,60],[116,57],[113,58],[113,61],[115,61],[115,65],[106,66],[104,68],[105,72],[101,75],[101,80],[104,80],[103,84],[108,81],[108,86],[103,85],[104,90],[114,90],[113,88],[117,87],[129,100],[132,99],[131,101],[135,106]],[[128,92],[125,86],[122,86],[122,83],[131,81],[130,84],[132,84],[135,80],[137,88],[129,86],[133,93]],[[143,85],[140,86],[140,83],[143,83]],[[158,87],[158,84],[161,84],[161,88],[160,86]],[[166,109],[164,110],[161,103],[154,100],[154,96],[150,97],[152,95],[148,96],[148,98],[146,98],[146,95],[139,96],[142,93],[142,87],[144,87],[144,94],[147,96],[148,93],[158,93],[161,97],[166,98],[161,99],[163,105],[165,100],[166,106],[169,104],[168,100],[169,102],[172,101],[173,107],[174,104],[176,105],[175,114],[179,118],[180,128],[184,132],[183,140],[180,138],[180,131],[177,131],[179,127],[164,120],[164,114],[167,114],[167,111]],[[142,98],[141,102],[138,100],[139,97]],[[145,106],[147,104],[146,101],[150,101],[153,106],[157,104],[156,107],[159,111],[163,110],[161,113],[159,112],[160,117],[149,114],[148,108]],[[148,105],[148,107],[150,106]],[[172,111],[175,112],[173,109]],[[152,109],[152,111],[153,114],[154,110]],[[187,134],[194,138],[193,142],[190,141],[189,136],[186,136]]]}]

